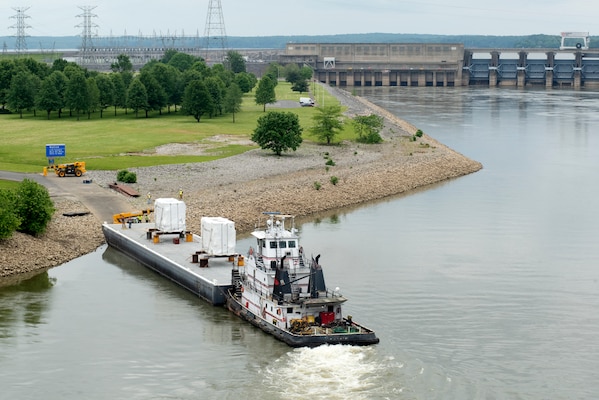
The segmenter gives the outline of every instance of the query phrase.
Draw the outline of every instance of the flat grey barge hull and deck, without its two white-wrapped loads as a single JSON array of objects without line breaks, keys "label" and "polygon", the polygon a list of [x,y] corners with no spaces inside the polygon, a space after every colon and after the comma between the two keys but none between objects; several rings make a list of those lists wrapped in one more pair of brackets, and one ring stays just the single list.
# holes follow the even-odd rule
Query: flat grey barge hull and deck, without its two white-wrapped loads
[{"label": "flat grey barge hull and deck, without its two white-wrapped loads", "polygon": [[223,305],[237,256],[210,256],[202,250],[199,235],[160,232],[155,228],[154,223],[102,225],[110,246],[209,303]]}]

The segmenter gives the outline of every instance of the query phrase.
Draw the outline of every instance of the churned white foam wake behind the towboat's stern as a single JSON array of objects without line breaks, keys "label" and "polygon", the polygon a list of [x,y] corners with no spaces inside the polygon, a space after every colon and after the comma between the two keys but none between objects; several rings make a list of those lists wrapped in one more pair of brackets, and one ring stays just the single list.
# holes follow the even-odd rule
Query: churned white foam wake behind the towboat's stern
[{"label": "churned white foam wake behind the towboat's stern", "polygon": [[341,345],[295,349],[267,367],[264,383],[286,399],[366,399],[383,368],[374,351]]}]

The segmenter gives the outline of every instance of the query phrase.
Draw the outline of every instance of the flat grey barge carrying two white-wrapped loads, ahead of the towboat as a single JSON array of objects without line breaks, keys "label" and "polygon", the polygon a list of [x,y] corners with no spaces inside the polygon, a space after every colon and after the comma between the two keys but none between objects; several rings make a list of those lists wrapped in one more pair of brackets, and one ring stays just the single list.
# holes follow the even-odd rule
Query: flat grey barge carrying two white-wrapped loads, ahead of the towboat
[{"label": "flat grey barge carrying two white-wrapped loads, ahead of the towboat", "polygon": [[156,199],[155,220],[105,222],[102,231],[109,246],[210,304],[224,305],[232,287],[232,263],[238,257],[229,245],[235,241],[233,223],[224,218],[203,219],[202,238],[186,229],[185,203],[175,199]]}]

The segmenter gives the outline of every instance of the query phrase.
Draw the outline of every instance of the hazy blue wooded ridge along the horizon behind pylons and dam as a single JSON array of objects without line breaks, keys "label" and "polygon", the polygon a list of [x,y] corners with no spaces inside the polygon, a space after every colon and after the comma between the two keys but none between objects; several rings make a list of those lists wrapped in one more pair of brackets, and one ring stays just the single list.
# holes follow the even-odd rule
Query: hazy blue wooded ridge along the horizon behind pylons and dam
[{"label": "hazy blue wooded ridge along the horizon behind pylons and dam", "polygon": [[[0,36],[3,49],[15,48],[15,37]],[[58,49],[78,49],[81,46],[79,36],[30,36],[26,39],[31,51],[52,51]],[[407,33],[364,33],[319,36],[229,36],[227,44],[232,49],[284,49],[290,42],[295,43],[463,43],[466,48],[559,48],[559,35],[529,36],[484,36],[484,35],[420,35]],[[594,40],[591,39],[591,47]],[[114,36],[94,38],[97,46],[114,47],[201,47],[202,37],[162,38]]]}]

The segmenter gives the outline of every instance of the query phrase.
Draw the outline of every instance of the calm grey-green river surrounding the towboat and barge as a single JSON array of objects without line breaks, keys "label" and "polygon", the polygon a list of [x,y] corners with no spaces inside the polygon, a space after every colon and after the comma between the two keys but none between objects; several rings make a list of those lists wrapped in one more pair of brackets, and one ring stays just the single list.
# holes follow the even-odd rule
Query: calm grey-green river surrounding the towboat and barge
[{"label": "calm grey-green river surrounding the towboat and barge", "polygon": [[484,166],[302,222],[380,344],[291,349],[103,246],[0,289],[0,398],[595,398],[598,93],[356,94]]}]

